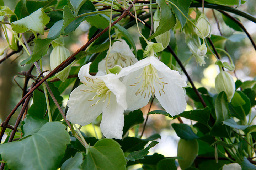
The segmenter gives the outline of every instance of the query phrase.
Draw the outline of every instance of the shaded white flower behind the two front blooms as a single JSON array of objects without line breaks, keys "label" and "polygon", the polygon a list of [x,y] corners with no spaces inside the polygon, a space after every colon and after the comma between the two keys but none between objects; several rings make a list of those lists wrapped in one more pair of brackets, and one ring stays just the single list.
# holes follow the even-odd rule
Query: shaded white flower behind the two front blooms
[{"label": "shaded white flower behind the two front blooms", "polygon": [[[118,41],[114,42],[110,49],[110,54],[108,56],[108,68],[112,68],[115,65],[119,65],[122,68],[133,65],[135,62],[137,62],[137,58],[133,54],[133,52],[130,50],[129,45],[126,43],[123,39],[117,39]],[[98,70],[105,73],[106,67],[105,67],[106,58],[103,59],[98,64]]]}]

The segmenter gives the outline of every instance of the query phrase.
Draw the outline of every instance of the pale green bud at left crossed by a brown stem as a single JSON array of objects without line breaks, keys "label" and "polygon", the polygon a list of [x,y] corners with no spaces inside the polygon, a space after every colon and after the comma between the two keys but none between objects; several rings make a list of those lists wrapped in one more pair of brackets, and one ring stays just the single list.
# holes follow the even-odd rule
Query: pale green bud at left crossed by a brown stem
[{"label": "pale green bud at left crossed by a brown stem", "polygon": [[[70,56],[69,50],[66,49],[64,46],[56,46],[53,48],[50,54],[50,67],[53,70],[56,68],[60,63],[66,60]],[[65,68],[64,70],[60,71],[60,74],[57,76],[61,81],[65,81],[68,78],[69,72],[71,67]]]}]

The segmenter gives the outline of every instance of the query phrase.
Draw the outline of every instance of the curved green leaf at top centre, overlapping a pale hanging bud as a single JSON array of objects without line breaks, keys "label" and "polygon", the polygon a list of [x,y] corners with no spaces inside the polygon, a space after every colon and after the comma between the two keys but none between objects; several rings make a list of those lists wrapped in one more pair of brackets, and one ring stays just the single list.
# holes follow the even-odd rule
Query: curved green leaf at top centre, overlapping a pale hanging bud
[{"label": "curved green leaf at top centre, overlapping a pale hanging bud", "polygon": [[176,18],[170,7],[166,4],[165,0],[156,0],[161,9],[161,18],[159,25],[156,28],[154,34],[152,34],[148,40],[155,38],[156,36],[169,31],[176,24]]}]

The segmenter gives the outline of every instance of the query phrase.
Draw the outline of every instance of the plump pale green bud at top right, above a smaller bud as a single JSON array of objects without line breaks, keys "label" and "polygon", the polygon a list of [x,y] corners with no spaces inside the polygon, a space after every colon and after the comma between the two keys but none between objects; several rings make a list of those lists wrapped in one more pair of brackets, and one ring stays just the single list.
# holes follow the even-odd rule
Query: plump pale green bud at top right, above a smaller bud
[{"label": "plump pale green bud at top right, above a smaller bud", "polygon": [[[210,35],[211,26],[208,21],[208,18],[203,13],[199,16],[196,26],[197,28],[195,31],[200,38],[204,39]],[[200,32],[198,31],[198,29]]]}]

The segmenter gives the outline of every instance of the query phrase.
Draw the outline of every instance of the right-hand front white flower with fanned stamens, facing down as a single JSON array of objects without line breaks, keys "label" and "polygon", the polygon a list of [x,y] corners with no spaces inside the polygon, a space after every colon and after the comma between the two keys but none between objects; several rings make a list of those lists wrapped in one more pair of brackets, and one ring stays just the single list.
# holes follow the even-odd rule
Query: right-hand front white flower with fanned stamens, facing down
[{"label": "right-hand front white flower with fanned stamens, facing down", "polygon": [[178,115],[186,109],[182,87],[187,84],[178,71],[171,70],[155,56],[147,57],[132,66],[123,68],[119,76],[125,76],[127,110],[142,108],[151,96],[155,96],[170,115]]}]

